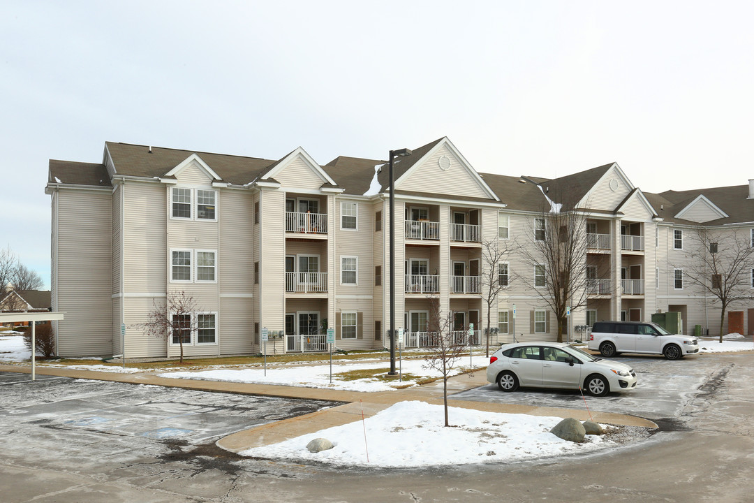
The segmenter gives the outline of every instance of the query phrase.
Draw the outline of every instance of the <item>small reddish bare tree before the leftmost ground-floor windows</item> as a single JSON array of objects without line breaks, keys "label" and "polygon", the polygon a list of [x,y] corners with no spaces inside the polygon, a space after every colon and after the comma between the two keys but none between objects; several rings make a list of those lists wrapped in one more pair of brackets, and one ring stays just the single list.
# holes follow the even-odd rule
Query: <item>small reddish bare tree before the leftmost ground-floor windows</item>
[{"label": "small reddish bare tree before the leftmost ground-floor windows", "polygon": [[134,327],[149,336],[172,338],[173,344],[180,345],[180,362],[183,363],[183,344],[190,343],[192,334],[198,331],[197,317],[194,316],[196,311],[199,311],[199,305],[193,296],[183,291],[171,292],[164,303],[155,302],[146,323]]}]

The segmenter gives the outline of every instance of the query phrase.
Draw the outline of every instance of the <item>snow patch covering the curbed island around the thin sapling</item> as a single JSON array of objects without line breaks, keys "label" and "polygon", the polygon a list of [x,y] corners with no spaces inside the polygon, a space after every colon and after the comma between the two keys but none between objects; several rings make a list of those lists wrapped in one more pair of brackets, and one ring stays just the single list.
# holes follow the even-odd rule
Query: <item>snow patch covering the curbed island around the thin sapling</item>
[{"label": "snow patch covering the curbed island around the thin sapling", "polygon": [[[550,416],[450,407],[448,418],[453,426],[445,428],[442,406],[400,402],[363,422],[328,428],[240,454],[333,465],[408,468],[523,461],[615,444],[609,436],[597,435],[587,435],[584,443],[562,440],[550,433],[562,419]],[[306,445],[320,437],[332,442],[333,449],[309,452]]]}]

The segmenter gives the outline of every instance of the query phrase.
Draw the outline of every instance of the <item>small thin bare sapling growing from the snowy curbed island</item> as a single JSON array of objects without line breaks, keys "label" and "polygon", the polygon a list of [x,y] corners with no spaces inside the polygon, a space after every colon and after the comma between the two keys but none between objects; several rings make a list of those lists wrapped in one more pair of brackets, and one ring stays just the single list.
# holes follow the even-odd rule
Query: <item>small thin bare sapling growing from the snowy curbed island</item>
[{"label": "small thin bare sapling growing from the snowy curbed island", "polygon": [[455,367],[455,363],[464,354],[465,340],[456,337],[452,330],[452,317],[443,316],[440,312],[440,299],[429,299],[428,330],[431,348],[425,356],[425,369],[434,369],[443,375],[443,406],[445,409],[445,425],[448,422],[448,378]]}]

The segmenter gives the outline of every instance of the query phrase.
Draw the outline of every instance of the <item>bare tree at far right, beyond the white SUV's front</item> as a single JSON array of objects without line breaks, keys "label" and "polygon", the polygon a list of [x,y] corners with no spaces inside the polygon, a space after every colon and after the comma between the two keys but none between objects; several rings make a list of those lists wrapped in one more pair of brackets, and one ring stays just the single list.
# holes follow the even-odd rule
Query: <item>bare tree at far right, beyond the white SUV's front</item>
[{"label": "bare tree at far right, beyond the white SUV's front", "polygon": [[734,231],[713,231],[697,228],[690,233],[688,259],[678,268],[683,276],[704,296],[712,296],[720,305],[720,342],[722,343],[725,313],[731,305],[754,299],[752,270],[754,247],[747,238]]}]

